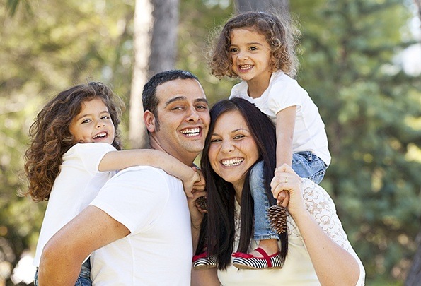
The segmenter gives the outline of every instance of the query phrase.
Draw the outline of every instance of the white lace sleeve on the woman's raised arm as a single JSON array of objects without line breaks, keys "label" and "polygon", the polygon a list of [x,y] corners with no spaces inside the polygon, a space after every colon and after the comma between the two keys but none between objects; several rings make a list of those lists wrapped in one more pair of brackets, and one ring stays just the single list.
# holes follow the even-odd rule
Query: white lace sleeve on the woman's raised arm
[{"label": "white lace sleeve on the woman's raised arm", "polygon": [[364,285],[364,266],[347,239],[347,234],[342,227],[342,222],[340,222],[338,215],[336,214],[335,203],[333,203],[332,198],[330,198],[325,189],[314,184],[313,181],[309,179],[303,179],[302,188],[303,199],[308,213],[310,213],[318,225],[334,242],[357,259],[359,264],[359,279],[357,285]]}]

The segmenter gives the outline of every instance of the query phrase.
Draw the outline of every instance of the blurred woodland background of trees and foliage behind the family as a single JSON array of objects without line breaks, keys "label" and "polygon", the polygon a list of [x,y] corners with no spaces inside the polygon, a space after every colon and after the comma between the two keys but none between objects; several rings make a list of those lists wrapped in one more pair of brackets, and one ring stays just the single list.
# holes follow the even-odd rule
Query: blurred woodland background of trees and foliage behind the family
[{"label": "blurred woodland background of trees and foliage behind the family", "polygon": [[367,285],[421,285],[420,0],[0,4],[0,285],[33,280],[47,203],[17,193],[27,188],[28,129],[47,100],[71,85],[109,83],[127,105],[125,148],[142,146],[146,79],[187,69],[211,104],[228,97],[236,81],[209,74],[209,35],[236,10],[270,5],[298,20],[296,79],[318,105],[333,157],[321,185],[362,258]]}]

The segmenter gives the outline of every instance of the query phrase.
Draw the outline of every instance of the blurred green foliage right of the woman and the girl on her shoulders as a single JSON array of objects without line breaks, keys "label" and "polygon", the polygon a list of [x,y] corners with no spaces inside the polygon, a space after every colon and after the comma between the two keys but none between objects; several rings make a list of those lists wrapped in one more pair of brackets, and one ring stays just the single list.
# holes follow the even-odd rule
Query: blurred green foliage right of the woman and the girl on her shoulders
[{"label": "blurred green foliage right of the woman and the girl on her shoulders", "polygon": [[319,107],[333,157],[322,185],[367,281],[403,281],[421,216],[420,157],[411,155],[421,142],[420,78],[393,66],[409,44],[409,11],[394,0],[309,4],[292,1],[292,11],[303,33],[298,80]]}]

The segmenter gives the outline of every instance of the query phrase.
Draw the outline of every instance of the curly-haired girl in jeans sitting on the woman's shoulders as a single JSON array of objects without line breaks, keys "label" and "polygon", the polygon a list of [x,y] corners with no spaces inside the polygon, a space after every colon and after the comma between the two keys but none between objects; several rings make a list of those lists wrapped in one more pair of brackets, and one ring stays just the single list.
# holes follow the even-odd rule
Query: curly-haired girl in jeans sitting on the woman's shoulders
[{"label": "curly-haired girl in jeans sitting on the woman's shoulders", "polygon": [[[241,13],[229,19],[222,28],[209,66],[218,78],[241,78],[241,82],[233,86],[230,98],[248,100],[276,124],[277,167],[292,166],[300,177],[319,184],[330,164],[328,138],[318,108],[293,78],[298,66],[295,42],[287,15]],[[256,183],[265,175],[259,166],[251,171],[250,189],[255,203],[254,235],[260,244],[258,251],[253,251],[247,259],[233,259],[233,265],[238,268],[280,267],[268,267],[259,259],[264,261],[262,249],[265,255],[279,255],[278,236],[271,230],[266,212],[270,206],[267,196],[272,194],[259,191],[264,188]],[[273,177],[273,174],[267,175]],[[287,201],[284,200],[284,206]]]}]

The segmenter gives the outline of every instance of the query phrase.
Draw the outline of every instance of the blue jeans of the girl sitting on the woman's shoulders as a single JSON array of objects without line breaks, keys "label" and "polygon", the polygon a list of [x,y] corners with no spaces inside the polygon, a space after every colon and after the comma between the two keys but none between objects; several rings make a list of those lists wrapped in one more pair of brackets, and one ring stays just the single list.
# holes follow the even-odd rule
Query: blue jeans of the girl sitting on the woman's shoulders
[{"label": "blue jeans of the girl sitting on the woman's shoulders", "polygon": [[[326,172],[326,165],[313,153],[306,151],[292,155],[292,169],[302,178],[320,183]],[[272,174],[271,174],[272,176]],[[270,207],[265,192],[263,162],[254,165],[250,172],[250,192],[254,200],[254,239],[279,239],[277,232],[270,227],[267,209]]]}]

